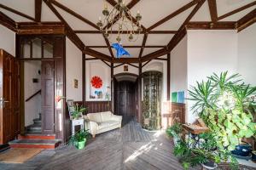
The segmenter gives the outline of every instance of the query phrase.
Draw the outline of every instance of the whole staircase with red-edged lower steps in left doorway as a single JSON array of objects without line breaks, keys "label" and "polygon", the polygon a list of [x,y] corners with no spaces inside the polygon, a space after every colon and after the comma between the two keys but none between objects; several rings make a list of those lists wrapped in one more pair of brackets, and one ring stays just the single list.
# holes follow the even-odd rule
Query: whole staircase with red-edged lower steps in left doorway
[{"label": "whole staircase with red-edged lower steps in left doorway", "polygon": [[42,148],[55,149],[61,141],[55,139],[55,134],[42,134],[41,116],[33,120],[33,124],[26,127],[26,134],[9,142],[11,148]]}]

